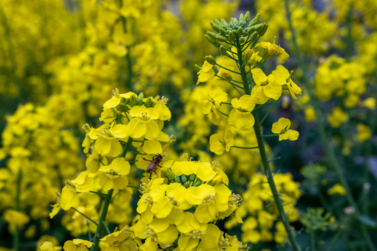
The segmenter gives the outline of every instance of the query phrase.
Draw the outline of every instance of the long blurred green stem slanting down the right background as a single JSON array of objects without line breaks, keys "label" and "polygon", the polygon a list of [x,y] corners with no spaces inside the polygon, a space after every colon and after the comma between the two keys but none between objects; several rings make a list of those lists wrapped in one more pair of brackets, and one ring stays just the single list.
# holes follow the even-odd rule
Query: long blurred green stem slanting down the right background
[{"label": "long blurred green stem slanting down the right background", "polygon": [[[290,16],[288,0],[285,0],[285,2],[286,2],[286,16],[287,16],[288,24],[289,24],[289,27],[290,27],[290,33],[291,33],[291,36],[292,36],[292,43],[293,43],[293,46],[295,47],[295,50],[296,50],[296,56],[297,56],[298,63],[300,64],[300,66],[302,68],[302,73],[303,73],[302,74],[303,75],[302,83],[306,87],[306,92],[309,95],[309,100],[311,102],[311,105],[313,106],[314,111],[316,112],[317,115],[319,115],[319,114],[322,114],[321,109],[320,109],[320,105],[319,105],[318,100],[314,96],[312,86],[309,85],[309,80],[306,78],[306,64],[304,62],[304,59],[302,58],[302,55],[300,53],[300,48],[298,47],[298,44],[297,44],[295,29],[293,29],[293,23],[292,23],[292,19],[291,19],[291,16]],[[318,127],[318,131],[319,131],[319,134],[320,134],[320,141],[323,145],[323,148],[325,149],[325,152],[327,153],[328,162],[329,162],[330,166],[334,169],[335,173],[337,174],[339,182],[341,183],[343,188],[346,190],[346,198],[348,200],[348,203],[350,204],[350,206],[355,208],[355,217],[359,218],[360,217],[360,210],[359,210],[355,200],[352,197],[352,194],[350,192],[350,187],[349,187],[349,185],[346,181],[346,176],[343,173],[343,170],[341,169],[341,165],[339,163],[339,160],[337,159],[337,155],[334,151],[334,148],[330,145],[330,141],[327,138],[326,129],[325,129],[325,122],[319,116],[318,116],[318,119],[317,119],[317,127]],[[369,246],[369,249],[375,251],[376,248],[374,247],[374,243],[371,240],[371,237],[369,236],[367,226],[364,225],[361,222],[360,227],[362,228],[362,235],[364,236],[364,240],[366,241],[367,245]]]}]

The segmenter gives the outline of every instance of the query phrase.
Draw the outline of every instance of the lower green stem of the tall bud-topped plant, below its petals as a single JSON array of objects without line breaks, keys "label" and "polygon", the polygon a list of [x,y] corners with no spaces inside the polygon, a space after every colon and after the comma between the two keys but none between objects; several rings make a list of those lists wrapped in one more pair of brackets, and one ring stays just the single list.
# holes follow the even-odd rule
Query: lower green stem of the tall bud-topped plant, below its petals
[{"label": "lower green stem of the tall bud-topped plant, below its petals", "polygon": [[260,130],[258,116],[256,114],[256,111],[253,111],[252,114],[254,116],[254,119],[256,120],[253,127],[254,127],[254,130],[256,132],[256,139],[257,139],[258,146],[259,146],[260,158],[262,158],[262,166],[263,166],[264,172],[267,176],[267,181],[268,181],[268,184],[269,184],[269,188],[271,189],[272,196],[274,197],[276,208],[279,211],[281,221],[283,222],[284,228],[287,231],[288,240],[290,242],[290,245],[292,245],[292,248],[295,251],[301,250],[300,246],[298,245],[298,243],[295,239],[295,236],[293,235],[292,229],[290,229],[288,217],[287,217],[287,215],[284,211],[283,204],[281,203],[279,192],[276,189],[276,185],[275,185],[275,182],[274,182],[274,176],[272,174],[271,168],[269,167],[269,161],[268,161],[268,158],[267,158],[265,143],[263,142],[262,132]]}]

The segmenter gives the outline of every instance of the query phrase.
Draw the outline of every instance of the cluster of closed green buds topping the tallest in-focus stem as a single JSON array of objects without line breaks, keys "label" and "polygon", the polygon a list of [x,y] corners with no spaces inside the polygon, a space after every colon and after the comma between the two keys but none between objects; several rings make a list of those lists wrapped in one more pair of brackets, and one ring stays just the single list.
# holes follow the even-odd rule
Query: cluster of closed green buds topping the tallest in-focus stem
[{"label": "cluster of closed green buds topping the tallest in-focus stem", "polygon": [[[221,55],[226,55],[226,50],[230,50],[232,45],[242,45],[244,43],[253,43],[259,37],[265,35],[268,24],[259,22],[259,13],[253,20],[250,20],[249,11],[245,15],[240,14],[239,19],[232,17],[230,22],[225,19],[211,21],[210,24],[215,32],[207,31],[205,37],[215,47],[218,47]],[[249,24],[248,24],[249,22]],[[246,25],[247,24],[247,25]]]}]

